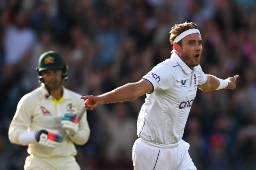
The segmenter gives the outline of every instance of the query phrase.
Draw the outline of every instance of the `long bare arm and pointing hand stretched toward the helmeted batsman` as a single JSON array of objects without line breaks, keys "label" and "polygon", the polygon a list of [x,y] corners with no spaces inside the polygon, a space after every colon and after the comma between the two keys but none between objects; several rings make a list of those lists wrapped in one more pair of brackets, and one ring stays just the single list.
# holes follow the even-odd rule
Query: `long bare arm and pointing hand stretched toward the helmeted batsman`
[{"label": "long bare arm and pointing hand stretched toward the helmeted batsman", "polygon": [[84,103],[85,108],[92,111],[101,104],[132,101],[149,92],[153,92],[153,85],[148,80],[142,79],[136,83],[125,84],[99,96],[83,96],[80,98],[87,99]]}]

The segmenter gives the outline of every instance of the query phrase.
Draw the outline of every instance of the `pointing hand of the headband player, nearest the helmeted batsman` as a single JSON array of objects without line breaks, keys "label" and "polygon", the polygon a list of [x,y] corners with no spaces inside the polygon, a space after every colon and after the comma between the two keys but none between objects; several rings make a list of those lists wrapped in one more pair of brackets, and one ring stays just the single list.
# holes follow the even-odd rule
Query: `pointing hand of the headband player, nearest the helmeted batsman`
[{"label": "pointing hand of the headband player, nearest the helmeted batsman", "polygon": [[80,99],[86,99],[85,101],[85,108],[92,111],[93,109],[97,108],[101,104],[103,104],[103,97],[98,96],[83,96]]}]

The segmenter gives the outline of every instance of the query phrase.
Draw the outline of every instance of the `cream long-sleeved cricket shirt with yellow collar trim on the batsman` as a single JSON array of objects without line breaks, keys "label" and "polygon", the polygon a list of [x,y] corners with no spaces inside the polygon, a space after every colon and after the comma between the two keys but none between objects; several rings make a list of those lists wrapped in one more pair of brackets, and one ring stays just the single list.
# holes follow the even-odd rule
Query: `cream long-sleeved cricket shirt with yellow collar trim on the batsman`
[{"label": "cream long-sleeved cricket shirt with yellow collar trim on the batsman", "polygon": [[46,98],[45,94],[48,92],[44,86],[41,86],[21,98],[11,121],[9,139],[13,143],[20,144],[18,139],[24,131],[56,130],[64,135],[60,147],[49,148],[38,143],[29,144],[28,153],[41,157],[75,156],[77,153],[75,144],[83,145],[89,139],[90,129],[86,111],[80,120],[78,134],[73,137],[66,135],[60,121],[65,113],[77,114],[82,111],[84,102],[79,98],[81,95],[64,88],[63,97],[57,101],[52,96]]}]

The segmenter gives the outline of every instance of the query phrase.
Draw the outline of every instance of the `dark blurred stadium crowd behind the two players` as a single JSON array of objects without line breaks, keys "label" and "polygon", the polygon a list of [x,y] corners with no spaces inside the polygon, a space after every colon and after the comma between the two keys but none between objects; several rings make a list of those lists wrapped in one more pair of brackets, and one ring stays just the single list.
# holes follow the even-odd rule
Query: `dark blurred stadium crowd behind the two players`
[{"label": "dark blurred stadium crowd behind the two players", "polygon": [[[65,87],[97,95],[136,82],[170,57],[171,26],[198,24],[207,74],[239,74],[236,90],[198,90],[183,139],[198,170],[256,170],[255,0],[0,0],[0,165],[22,170],[27,146],[8,128],[20,98],[39,87],[48,50],[68,66]],[[131,170],[136,121],[145,96],[88,111],[82,170]]]}]

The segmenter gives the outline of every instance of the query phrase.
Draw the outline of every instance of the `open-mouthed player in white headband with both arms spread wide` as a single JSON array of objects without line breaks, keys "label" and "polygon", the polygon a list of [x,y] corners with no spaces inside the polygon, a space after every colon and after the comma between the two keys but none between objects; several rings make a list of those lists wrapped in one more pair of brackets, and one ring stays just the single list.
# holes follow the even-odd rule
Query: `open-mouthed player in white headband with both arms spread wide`
[{"label": "open-mouthed player in white headband with both arms spread wide", "polygon": [[202,37],[195,23],[171,28],[171,58],[159,63],[136,83],[99,96],[84,96],[85,107],[134,100],[146,94],[139,112],[137,139],[132,148],[134,170],[196,170],[181,138],[197,88],[203,91],[236,88],[238,75],[226,80],[203,73],[199,65]]}]

